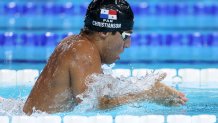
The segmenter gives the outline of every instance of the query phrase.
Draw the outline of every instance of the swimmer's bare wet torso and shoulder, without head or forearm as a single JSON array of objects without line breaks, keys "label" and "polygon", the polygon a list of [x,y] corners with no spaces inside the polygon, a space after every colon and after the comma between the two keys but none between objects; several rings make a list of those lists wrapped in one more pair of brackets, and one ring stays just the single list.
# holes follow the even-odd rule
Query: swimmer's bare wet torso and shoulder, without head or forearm
[{"label": "swimmer's bare wet torso and shoulder, without head or forearm", "polygon": [[101,72],[97,48],[82,36],[65,38],[51,55],[34,85],[24,112],[36,110],[55,113],[71,110],[76,95],[85,89],[85,79]]}]

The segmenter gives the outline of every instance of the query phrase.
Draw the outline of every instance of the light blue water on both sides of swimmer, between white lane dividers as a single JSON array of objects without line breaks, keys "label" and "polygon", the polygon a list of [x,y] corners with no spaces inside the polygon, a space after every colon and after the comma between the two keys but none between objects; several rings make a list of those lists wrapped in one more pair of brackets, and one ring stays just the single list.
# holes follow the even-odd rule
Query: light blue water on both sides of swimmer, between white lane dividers
[{"label": "light blue water on both sides of swimmer, between white lane dividers", "polygon": [[[13,91],[11,91],[13,90]],[[59,113],[60,116],[65,115],[170,115],[170,114],[183,114],[183,115],[199,115],[211,114],[218,116],[218,89],[194,89],[194,88],[179,88],[189,98],[189,101],[184,106],[179,107],[166,107],[148,102],[138,102],[122,105],[108,110],[83,111],[83,112],[63,112]],[[31,91],[31,87],[1,87],[0,96],[5,98],[25,100]]]}]

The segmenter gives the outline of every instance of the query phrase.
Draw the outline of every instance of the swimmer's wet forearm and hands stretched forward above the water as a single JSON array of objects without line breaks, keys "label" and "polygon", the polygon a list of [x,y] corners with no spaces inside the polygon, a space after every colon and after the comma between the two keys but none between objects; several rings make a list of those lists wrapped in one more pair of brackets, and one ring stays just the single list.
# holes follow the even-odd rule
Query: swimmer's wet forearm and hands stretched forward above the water
[{"label": "swimmer's wet forearm and hands stretched forward above the water", "polygon": [[151,89],[137,94],[127,94],[113,98],[104,96],[99,99],[99,108],[113,108],[122,104],[136,101],[149,101],[167,106],[177,106],[180,104],[185,104],[187,99],[181,92],[178,92],[163,83],[156,82]]}]

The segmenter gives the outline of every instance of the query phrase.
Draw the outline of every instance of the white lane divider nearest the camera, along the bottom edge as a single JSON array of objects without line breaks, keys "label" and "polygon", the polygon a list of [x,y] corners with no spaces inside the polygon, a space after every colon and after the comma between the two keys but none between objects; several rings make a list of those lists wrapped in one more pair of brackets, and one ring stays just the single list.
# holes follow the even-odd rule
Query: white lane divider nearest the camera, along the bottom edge
[{"label": "white lane divider nearest the camera, along the bottom edge", "polygon": [[216,123],[215,115],[0,116],[1,123]]}]

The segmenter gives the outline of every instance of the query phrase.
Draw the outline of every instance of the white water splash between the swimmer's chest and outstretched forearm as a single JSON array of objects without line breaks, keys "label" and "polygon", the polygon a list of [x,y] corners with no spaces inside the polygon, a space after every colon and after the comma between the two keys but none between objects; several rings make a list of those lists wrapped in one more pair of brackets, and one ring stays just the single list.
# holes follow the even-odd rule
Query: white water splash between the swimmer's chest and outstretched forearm
[{"label": "white water splash between the swimmer's chest and outstretched forearm", "polygon": [[[109,68],[107,68],[107,72]],[[87,90],[77,96],[82,99],[82,102],[75,110],[95,110],[98,107],[98,99],[105,95],[109,97],[119,97],[148,90],[163,74],[162,72],[151,72],[141,77],[120,78],[115,78],[111,74],[93,74],[86,80]]]}]

